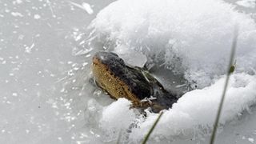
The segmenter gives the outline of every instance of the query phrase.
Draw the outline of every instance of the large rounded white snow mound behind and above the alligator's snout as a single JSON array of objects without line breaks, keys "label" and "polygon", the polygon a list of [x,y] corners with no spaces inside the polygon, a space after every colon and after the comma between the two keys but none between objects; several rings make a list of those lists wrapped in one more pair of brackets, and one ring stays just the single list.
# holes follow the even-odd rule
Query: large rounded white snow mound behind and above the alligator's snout
[{"label": "large rounded white snow mound behind and above the alligator's snout", "polygon": [[236,24],[237,69],[251,71],[256,67],[254,20],[222,1],[119,0],[100,11],[90,27],[94,41],[106,48],[141,51],[204,87],[225,74]]}]

